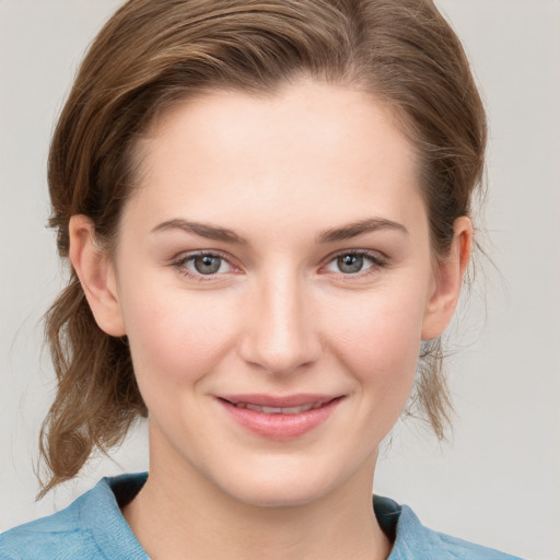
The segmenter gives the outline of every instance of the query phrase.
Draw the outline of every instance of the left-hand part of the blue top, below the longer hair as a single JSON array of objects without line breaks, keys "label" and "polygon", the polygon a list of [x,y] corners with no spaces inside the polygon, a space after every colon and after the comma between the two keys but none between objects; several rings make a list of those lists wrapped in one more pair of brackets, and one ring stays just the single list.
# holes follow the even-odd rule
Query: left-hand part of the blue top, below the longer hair
[{"label": "left-hand part of the blue top, below the longer hair", "polygon": [[0,535],[0,560],[145,559],[128,527],[115,490],[143,483],[145,476],[101,480],[68,508]]}]

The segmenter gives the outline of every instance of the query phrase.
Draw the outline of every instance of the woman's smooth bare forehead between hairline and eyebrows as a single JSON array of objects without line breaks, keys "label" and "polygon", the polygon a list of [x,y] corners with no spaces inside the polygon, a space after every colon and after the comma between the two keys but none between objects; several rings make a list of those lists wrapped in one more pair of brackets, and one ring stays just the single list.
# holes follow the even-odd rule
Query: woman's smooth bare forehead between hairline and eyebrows
[{"label": "woman's smooth bare forehead between hairline and eyebrows", "polygon": [[142,199],[162,220],[172,208],[208,219],[229,211],[231,220],[313,208],[351,220],[345,209],[366,205],[365,213],[401,221],[419,195],[413,149],[390,109],[366,92],[324,83],[184,101],[160,115],[140,154],[131,206]]}]

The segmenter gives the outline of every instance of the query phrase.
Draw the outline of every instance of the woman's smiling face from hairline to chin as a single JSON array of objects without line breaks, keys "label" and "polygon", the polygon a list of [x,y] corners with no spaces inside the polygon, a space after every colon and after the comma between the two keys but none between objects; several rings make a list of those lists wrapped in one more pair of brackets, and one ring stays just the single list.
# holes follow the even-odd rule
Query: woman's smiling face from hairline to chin
[{"label": "woman's smiling face from hairline to chin", "polygon": [[318,83],[215,92],[171,109],[140,149],[109,326],[89,298],[129,339],[151,469],[267,505],[371,486],[442,323],[392,114]]}]

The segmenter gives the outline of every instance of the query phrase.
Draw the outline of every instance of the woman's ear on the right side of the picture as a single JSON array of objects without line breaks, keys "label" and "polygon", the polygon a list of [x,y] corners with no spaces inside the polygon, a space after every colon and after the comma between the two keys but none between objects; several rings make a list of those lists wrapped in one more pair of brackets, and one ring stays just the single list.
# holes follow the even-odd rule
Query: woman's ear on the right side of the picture
[{"label": "woman's ear on the right side of the picture", "polygon": [[422,324],[422,340],[439,337],[450,324],[459,299],[463,278],[472,248],[472,223],[466,215],[455,220],[450,255],[438,262],[434,289]]}]

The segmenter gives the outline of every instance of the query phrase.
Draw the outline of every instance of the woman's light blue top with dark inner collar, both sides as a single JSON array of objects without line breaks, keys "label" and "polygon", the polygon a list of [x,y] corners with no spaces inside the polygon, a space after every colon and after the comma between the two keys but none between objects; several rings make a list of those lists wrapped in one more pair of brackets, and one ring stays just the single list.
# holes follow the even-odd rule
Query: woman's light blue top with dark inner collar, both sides
[{"label": "woman's light blue top with dark inner collar, both sides", "polygon": [[[0,535],[0,560],[149,560],[120,513],[147,474],[104,478],[65,510]],[[374,497],[382,529],[394,540],[388,560],[521,560],[424,527],[406,505]]]}]

